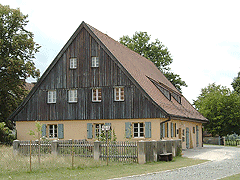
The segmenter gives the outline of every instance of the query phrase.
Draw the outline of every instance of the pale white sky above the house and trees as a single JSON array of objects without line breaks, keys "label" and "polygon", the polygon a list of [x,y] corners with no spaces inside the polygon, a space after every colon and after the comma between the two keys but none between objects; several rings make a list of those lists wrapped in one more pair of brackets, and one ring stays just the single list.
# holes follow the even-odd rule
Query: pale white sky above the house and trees
[{"label": "pale white sky above the house and trees", "polygon": [[[240,71],[238,0],[0,0],[28,14],[27,29],[41,45],[34,60],[41,75],[82,21],[115,40],[136,31],[159,39],[171,52],[171,71],[193,102],[209,84],[232,89]],[[29,80],[30,81],[30,80]]]}]

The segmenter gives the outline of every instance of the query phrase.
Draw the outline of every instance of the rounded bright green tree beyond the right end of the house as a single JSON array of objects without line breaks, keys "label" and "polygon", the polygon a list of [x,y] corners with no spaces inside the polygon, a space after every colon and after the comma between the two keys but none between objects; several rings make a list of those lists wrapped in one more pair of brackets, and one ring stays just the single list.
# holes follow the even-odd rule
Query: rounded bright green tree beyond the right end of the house
[{"label": "rounded bright green tree beyond the right end of the house", "polygon": [[213,136],[240,134],[240,96],[238,94],[213,83],[202,89],[194,105],[209,120],[204,128]]}]

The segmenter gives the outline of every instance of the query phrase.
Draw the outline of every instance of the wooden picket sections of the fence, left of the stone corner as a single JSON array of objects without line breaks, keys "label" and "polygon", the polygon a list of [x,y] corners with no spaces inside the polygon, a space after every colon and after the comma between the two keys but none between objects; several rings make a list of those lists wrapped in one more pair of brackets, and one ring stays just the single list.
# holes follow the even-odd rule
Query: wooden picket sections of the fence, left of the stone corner
[{"label": "wooden picket sections of the fence, left of the stone corner", "polygon": [[[96,148],[96,146],[99,146]],[[55,154],[62,156],[78,156],[84,158],[94,158],[99,154],[99,159],[118,161],[125,163],[137,162],[137,142],[93,142],[86,140],[58,140],[58,141],[18,141],[13,143],[15,154],[46,155]],[[96,150],[98,149],[98,150]],[[97,151],[97,153],[96,153]]]}]

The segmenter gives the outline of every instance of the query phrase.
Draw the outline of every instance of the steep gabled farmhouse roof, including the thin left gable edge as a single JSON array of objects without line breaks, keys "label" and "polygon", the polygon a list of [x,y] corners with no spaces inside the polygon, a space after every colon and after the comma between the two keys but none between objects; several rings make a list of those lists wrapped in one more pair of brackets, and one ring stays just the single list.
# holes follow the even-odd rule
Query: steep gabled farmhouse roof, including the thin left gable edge
[{"label": "steep gabled farmhouse roof, including the thin left gable edge", "polygon": [[[60,57],[63,55],[68,46],[72,43],[78,33],[82,28],[85,28],[102,46],[110,57],[114,61],[118,61],[121,68],[125,70],[128,76],[138,85],[138,87],[145,93],[155,105],[162,109],[165,114],[170,117],[188,119],[188,120],[198,120],[202,122],[207,122],[207,119],[203,117],[193,106],[178,92],[178,90],[172,85],[172,83],[161,73],[161,71],[148,59],[140,56],[136,52],[130,50],[114,39],[110,38],[108,35],[98,31],[92,26],[82,22],[72,37],[68,40],[47,70],[44,72],[40,80],[22,102],[22,104],[15,110],[15,112],[9,117],[13,119],[19,111],[27,104],[29,99],[36,92],[37,88],[47,77],[51,69],[58,62]],[[153,83],[154,81],[154,83]],[[177,97],[181,98],[181,103],[175,98],[170,100],[159,90],[156,83],[163,89],[172,93]]]}]

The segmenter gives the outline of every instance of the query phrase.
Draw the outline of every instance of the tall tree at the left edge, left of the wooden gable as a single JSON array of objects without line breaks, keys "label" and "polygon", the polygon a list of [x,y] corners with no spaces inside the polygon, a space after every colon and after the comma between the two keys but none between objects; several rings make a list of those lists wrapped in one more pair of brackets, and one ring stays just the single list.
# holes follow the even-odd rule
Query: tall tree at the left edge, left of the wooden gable
[{"label": "tall tree at the left edge, left of the wooden gable", "polygon": [[27,23],[19,9],[0,4],[0,122],[10,129],[13,122],[7,118],[28,93],[25,80],[40,75],[33,62],[40,46],[26,30]]}]

